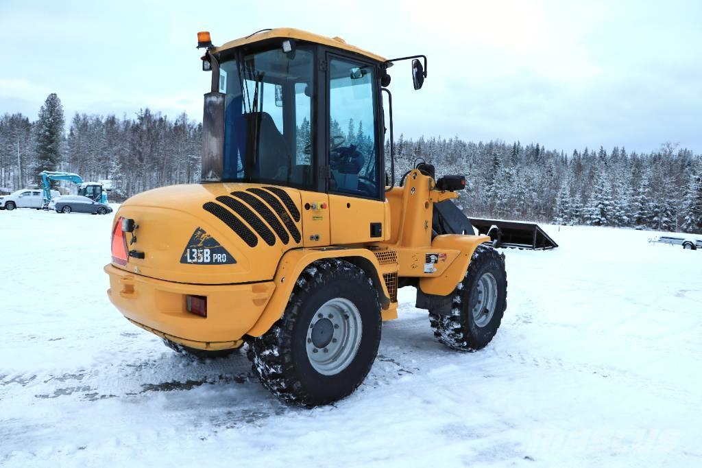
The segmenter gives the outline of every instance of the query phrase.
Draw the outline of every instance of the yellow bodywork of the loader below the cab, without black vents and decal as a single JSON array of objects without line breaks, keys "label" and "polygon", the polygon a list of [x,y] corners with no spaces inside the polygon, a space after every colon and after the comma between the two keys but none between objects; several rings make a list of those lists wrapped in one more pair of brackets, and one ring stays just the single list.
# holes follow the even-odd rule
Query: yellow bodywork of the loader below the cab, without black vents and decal
[{"label": "yellow bodywork of the loader below the cab, without black vents and decal", "polygon": [[[373,278],[383,299],[383,320],[392,320],[397,318],[398,278],[418,278],[418,287],[428,294],[451,294],[477,245],[489,241],[475,235],[439,235],[432,240],[432,204],[456,197],[436,190],[433,183],[412,171],[404,187],[392,188],[385,202],[279,187],[289,197],[282,211],[261,189],[277,193],[279,208],[281,192],[258,184],[150,190],[129,199],[115,216],[138,223],[136,240],[128,249],[144,252],[145,258],[106,266],[108,294],[126,318],[161,337],[200,349],[234,348],[246,335],[264,334],[280,318],[304,268],[319,259],[340,258]],[[258,232],[256,220],[234,209],[229,198],[244,203],[270,230],[276,221],[286,230],[294,226],[300,241],[290,236],[285,243],[276,235],[269,245],[257,235],[258,243],[251,247],[226,219],[236,218]],[[204,209],[208,204],[219,206],[221,216]],[[370,237],[370,223],[376,222],[383,223],[383,235],[377,239]],[[181,263],[197,228],[206,230],[237,263]],[[207,318],[185,310],[187,294],[207,297]]]}]

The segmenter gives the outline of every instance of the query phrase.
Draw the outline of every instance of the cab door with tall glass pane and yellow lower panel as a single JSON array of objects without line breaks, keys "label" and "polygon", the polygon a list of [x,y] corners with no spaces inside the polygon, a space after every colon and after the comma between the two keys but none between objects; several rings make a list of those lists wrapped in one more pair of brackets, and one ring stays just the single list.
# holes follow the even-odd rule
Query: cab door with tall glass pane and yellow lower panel
[{"label": "cab door with tall glass pane and yellow lower panel", "polygon": [[377,67],[326,54],[331,244],[379,242],[385,235]]}]

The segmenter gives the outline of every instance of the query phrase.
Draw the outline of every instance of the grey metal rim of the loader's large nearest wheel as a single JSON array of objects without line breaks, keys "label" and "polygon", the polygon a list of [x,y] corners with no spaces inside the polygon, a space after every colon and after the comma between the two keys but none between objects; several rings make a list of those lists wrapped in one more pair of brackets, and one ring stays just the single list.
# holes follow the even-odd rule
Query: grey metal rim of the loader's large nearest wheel
[{"label": "grey metal rim of the loader's large nearest wheel", "polygon": [[322,375],[337,375],[356,357],[362,337],[361,313],[341,297],[326,301],[307,327],[307,358]]}]

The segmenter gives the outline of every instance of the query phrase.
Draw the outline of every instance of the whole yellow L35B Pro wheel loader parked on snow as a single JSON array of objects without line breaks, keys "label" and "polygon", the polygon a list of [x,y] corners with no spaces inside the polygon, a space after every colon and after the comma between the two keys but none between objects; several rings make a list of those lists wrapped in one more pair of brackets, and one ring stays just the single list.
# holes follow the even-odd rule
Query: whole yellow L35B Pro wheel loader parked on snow
[{"label": "whole yellow L35B Pro wheel loader parked on snow", "polygon": [[177,351],[246,344],[263,385],[307,406],[363,382],[399,287],[416,287],[439,341],[486,346],[507,279],[451,201],[465,176],[420,162],[395,182],[389,70],[412,60],[419,89],[426,57],[286,28],[223,46],[199,33],[198,46],[212,74],[201,183],[121,205],[105,266],[114,306]]}]

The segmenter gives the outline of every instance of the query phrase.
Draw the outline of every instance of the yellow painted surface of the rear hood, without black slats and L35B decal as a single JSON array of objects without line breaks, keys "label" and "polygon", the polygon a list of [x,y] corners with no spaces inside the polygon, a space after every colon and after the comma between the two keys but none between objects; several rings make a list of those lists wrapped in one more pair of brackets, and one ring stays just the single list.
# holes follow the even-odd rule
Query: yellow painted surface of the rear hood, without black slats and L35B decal
[{"label": "yellow painted surface of the rear hood, without black slats and L35B decal", "polygon": [[[206,203],[215,203],[225,209],[217,197],[230,197],[232,192],[247,192],[247,188],[260,187],[262,186],[244,183],[189,184],[148,190],[131,197],[122,204],[117,215],[134,219],[138,223],[139,227],[135,230],[136,242],[129,243],[128,249],[144,252],[145,258],[130,258],[126,269],[134,273],[137,268],[140,275],[150,278],[194,284],[270,280],[282,254],[289,249],[302,247],[302,243],[290,238],[284,244],[277,239],[270,246],[259,240],[256,247],[249,247],[226,223],[203,208]],[[286,189],[286,193],[300,207],[300,191]],[[253,194],[251,196],[256,197]],[[247,207],[254,211],[252,207]],[[279,216],[276,217],[280,223],[283,222]],[[303,220],[291,222],[298,230],[303,230]],[[237,263],[216,266],[180,263],[181,254],[197,228],[204,229],[220,242]],[[131,242],[131,235],[127,234],[126,237]]]}]

